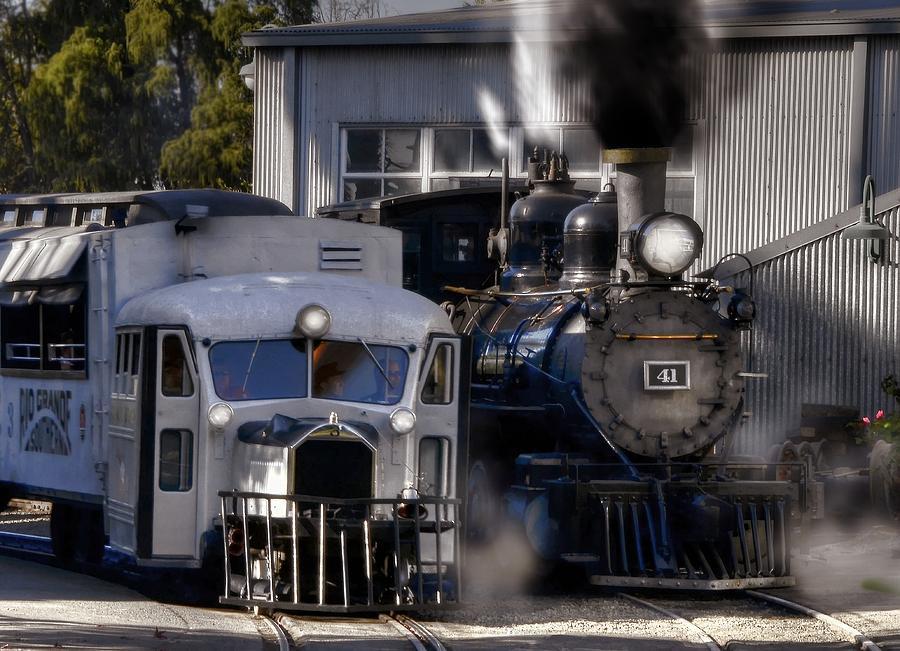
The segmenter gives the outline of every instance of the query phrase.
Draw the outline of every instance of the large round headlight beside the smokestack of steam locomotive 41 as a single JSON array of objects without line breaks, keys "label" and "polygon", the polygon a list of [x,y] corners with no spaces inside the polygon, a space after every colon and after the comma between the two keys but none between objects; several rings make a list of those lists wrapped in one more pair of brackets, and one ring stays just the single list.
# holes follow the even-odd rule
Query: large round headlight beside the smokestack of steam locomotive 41
[{"label": "large round headlight beside the smokestack of steam locomotive 41", "polygon": [[653,275],[677,276],[691,266],[703,247],[703,231],[687,215],[655,213],[634,231],[635,261]]}]

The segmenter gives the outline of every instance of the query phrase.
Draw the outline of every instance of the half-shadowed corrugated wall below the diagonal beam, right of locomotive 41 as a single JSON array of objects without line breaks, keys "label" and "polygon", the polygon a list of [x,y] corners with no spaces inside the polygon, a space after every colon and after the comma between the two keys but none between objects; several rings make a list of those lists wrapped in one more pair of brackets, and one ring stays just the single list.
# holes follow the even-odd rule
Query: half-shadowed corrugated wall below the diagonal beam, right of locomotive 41
[{"label": "half-shadowed corrugated wall below the diagonal beam, right of locomotive 41", "polygon": [[[900,216],[885,217],[900,233]],[[757,268],[749,380],[753,413],[738,434],[744,452],[763,453],[800,424],[803,403],[856,406],[872,415],[891,408],[881,380],[900,371],[900,243],[888,263],[868,259],[866,245],[835,234]],[[747,286],[747,274],[738,283]]]}]

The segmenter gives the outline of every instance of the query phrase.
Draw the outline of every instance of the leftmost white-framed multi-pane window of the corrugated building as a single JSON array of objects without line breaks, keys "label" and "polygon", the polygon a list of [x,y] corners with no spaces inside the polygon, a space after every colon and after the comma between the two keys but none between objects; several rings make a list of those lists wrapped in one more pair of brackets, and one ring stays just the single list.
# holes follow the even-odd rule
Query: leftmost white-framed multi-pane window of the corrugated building
[{"label": "leftmost white-framed multi-pane window of the corrugated building", "polygon": [[345,129],[344,201],[422,191],[421,129]]}]

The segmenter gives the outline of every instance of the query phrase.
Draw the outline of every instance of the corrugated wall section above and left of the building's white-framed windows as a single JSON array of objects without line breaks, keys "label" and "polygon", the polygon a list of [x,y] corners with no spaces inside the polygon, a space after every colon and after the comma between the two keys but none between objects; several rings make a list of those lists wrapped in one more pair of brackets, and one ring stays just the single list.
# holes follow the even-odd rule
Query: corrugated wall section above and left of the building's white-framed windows
[{"label": "corrugated wall section above and left of the building's white-framed windows", "polygon": [[[587,122],[583,88],[551,98],[547,46],[529,48],[532,72],[517,79],[506,45],[307,48],[301,92],[309,134],[307,210],[338,200],[339,152],[335,128],[344,124],[483,124],[479,94],[489,92],[507,121]],[[517,89],[536,98],[520,107]],[[301,186],[303,182],[301,181]]]}]

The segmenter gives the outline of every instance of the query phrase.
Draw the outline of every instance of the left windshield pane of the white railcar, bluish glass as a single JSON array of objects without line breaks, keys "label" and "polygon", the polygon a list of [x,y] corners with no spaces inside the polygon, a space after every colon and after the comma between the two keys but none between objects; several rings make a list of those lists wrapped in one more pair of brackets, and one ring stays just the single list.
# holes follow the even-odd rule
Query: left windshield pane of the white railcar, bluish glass
[{"label": "left windshield pane of the white railcar, bluish glass", "polygon": [[223,400],[307,395],[305,339],[221,341],[209,349],[216,394]]}]

